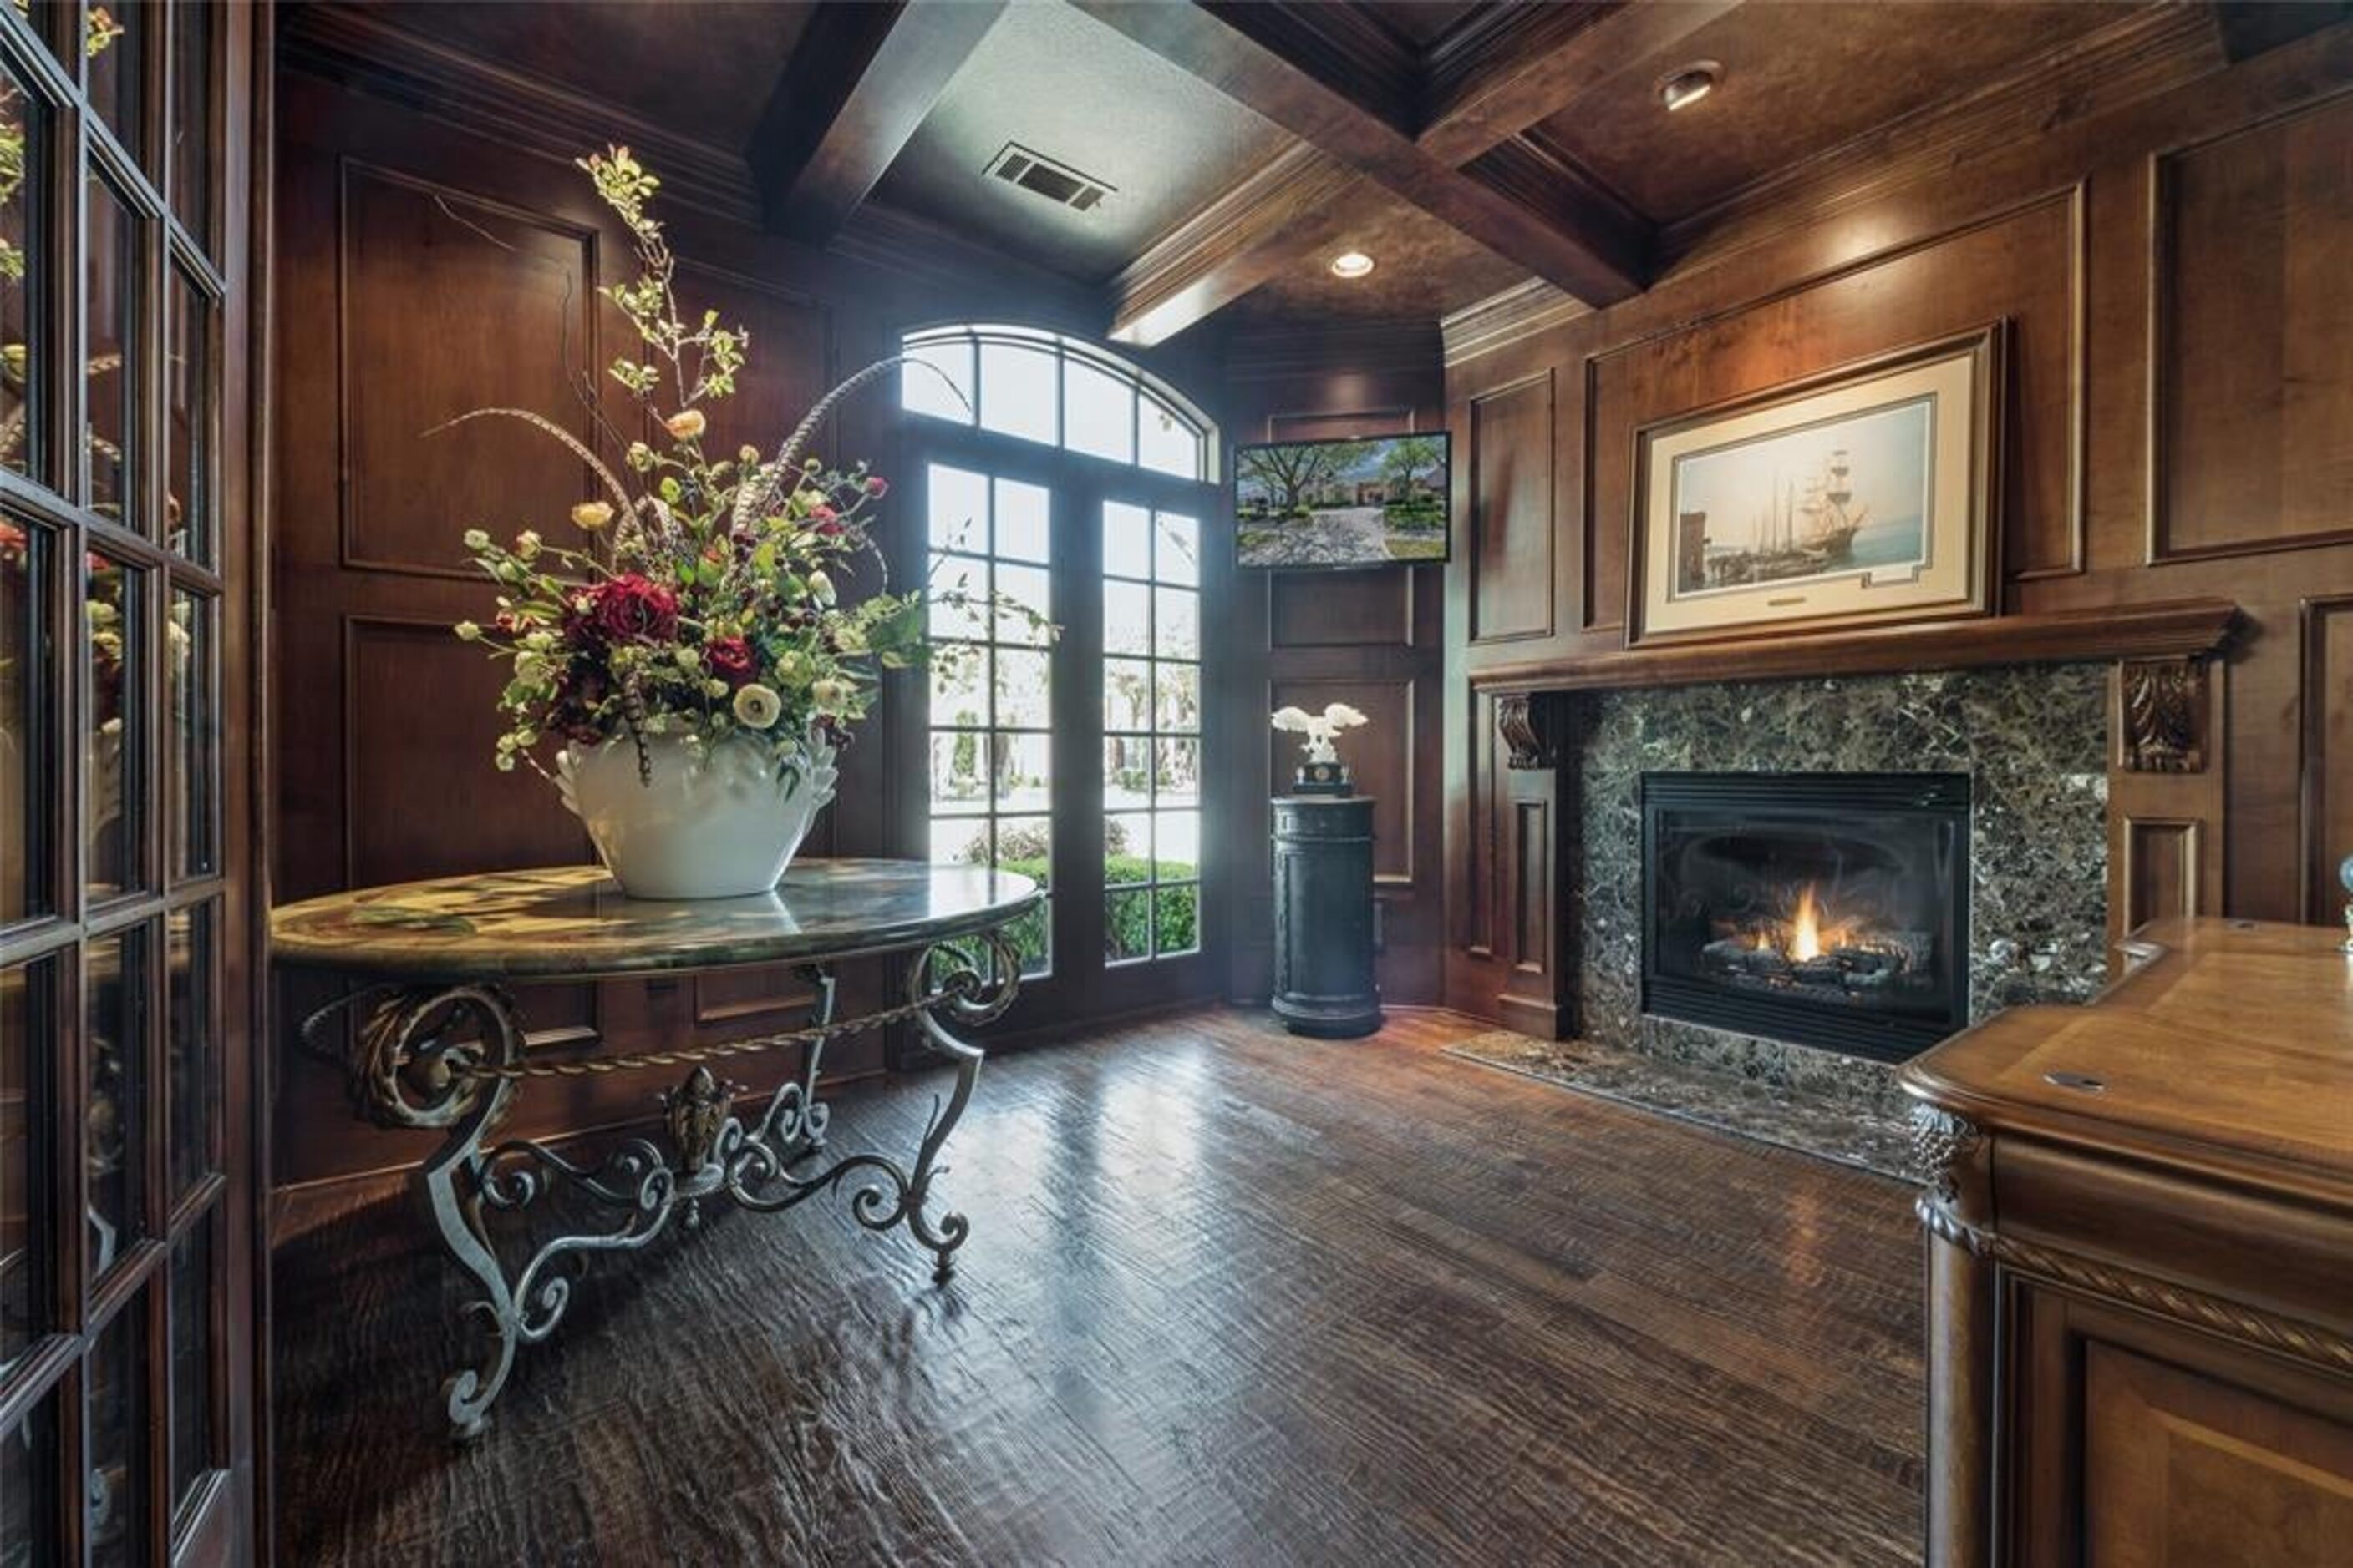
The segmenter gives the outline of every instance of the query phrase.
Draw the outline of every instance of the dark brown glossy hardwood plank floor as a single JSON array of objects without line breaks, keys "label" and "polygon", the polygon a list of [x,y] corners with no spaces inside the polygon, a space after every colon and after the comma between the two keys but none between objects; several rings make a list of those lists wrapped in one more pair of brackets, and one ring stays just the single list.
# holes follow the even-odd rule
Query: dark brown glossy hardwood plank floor
[{"label": "dark brown glossy hardwood plank floor", "polygon": [[[405,1194],[289,1206],[292,1563],[1915,1561],[1908,1190],[1438,1056],[1195,1013],[993,1060],[953,1284],[845,1204],[598,1267],[442,1439]],[[929,1081],[835,1103],[913,1143]]]}]

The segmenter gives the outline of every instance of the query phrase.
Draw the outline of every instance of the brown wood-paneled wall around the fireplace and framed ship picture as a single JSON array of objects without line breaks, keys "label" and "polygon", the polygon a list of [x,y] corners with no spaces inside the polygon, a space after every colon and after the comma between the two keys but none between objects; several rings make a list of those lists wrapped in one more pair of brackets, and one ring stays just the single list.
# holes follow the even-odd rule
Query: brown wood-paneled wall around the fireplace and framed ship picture
[{"label": "brown wood-paneled wall around the fireplace and framed ship picture", "polygon": [[2113,919],[2337,919],[2353,26],[2167,71],[2184,85],[1979,125],[1908,183],[1842,162],[1784,181],[1769,207],[1718,214],[1718,237],[1687,235],[1642,299],[1447,367],[1468,541],[1447,574],[1449,1004],[1541,1030],[1508,1001],[1534,997],[1574,1027],[1567,978],[1537,976],[1569,919],[1562,783],[1529,745],[1508,766],[1473,675],[1624,649],[1635,428],[1998,320],[2005,614],[2205,595],[2245,611],[2198,684],[2202,766],[2111,766]]}]

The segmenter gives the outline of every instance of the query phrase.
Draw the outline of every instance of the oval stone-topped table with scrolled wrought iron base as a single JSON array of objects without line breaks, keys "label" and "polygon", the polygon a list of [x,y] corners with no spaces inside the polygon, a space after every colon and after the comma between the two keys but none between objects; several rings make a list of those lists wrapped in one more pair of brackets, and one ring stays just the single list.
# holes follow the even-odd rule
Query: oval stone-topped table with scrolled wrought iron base
[{"label": "oval stone-topped table with scrolled wrought iron base", "polygon": [[[515,1352],[546,1340],[572,1300],[576,1262],[647,1246],[673,1213],[701,1220],[706,1201],[753,1211],[793,1208],[849,1187],[866,1229],[906,1225],[946,1279],[969,1232],[960,1213],[932,1213],[939,1150],[981,1072],[981,1048],[951,1032],[984,1025],[1021,980],[1009,922],[1042,903],[1028,877],[908,860],[805,860],[774,893],[664,903],[624,898],[602,867],[489,872],[332,893],[271,917],[275,961],[360,980],[353,994],[304,1023],[306,1048],[329,1056],[353,1105],[379,1126],[438,1131],[416,1168],[449,1258],[482,1288],[494,1345],[445,1385],[452,1434],[480,1436]],[[833,966],[911,954],[904,1001],[833,1016]],[[539,1063],[522,1051],[511,980],[612,980],[736,964],[793,964],[816,987],[807,1027],[746,1041]],[[341,1013],[353,1030],[329,1030]],[[816,1098],[824,1041],[908,1020],[955,1065],[955,1086],[932,1114],[911,1166],[882,1154],[826,1154],[828,1107]],[[332,1044],[348,1034],[351,1044]],[[798,1079],[758,1117],[734,1114],[711,1063],[807,1046]],[[591,1072],[685,1070],[664,1095],[664,1145],[628,1138],[584,1164],[532,1143],[492,1143],[532,1079]],[[489,1218],[565,1187],[616,1213],[612,1227],[518,1248],[501,1260]]]}]

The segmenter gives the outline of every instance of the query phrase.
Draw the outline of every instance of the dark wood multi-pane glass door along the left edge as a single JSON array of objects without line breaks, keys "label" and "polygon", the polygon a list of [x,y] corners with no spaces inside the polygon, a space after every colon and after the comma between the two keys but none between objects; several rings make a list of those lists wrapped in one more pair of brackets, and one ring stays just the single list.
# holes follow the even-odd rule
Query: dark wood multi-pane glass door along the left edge
[{"label": "dark wood multi-pane glass door along the left edge", "polygon": [[252,26],[0,7],[0,1568],[252,1552]]}]

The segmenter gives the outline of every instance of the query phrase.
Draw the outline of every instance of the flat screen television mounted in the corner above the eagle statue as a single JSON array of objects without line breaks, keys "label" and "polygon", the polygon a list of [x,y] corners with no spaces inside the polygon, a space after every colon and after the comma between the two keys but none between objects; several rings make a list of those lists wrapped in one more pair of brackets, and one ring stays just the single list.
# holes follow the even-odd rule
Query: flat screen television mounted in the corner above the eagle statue
[{"label": "flat screen television mounted in the corner above the eagle statue", "polygon": [[1233,449],[1240,567],[1346,569],[1447,559],[1447,433]]}]

